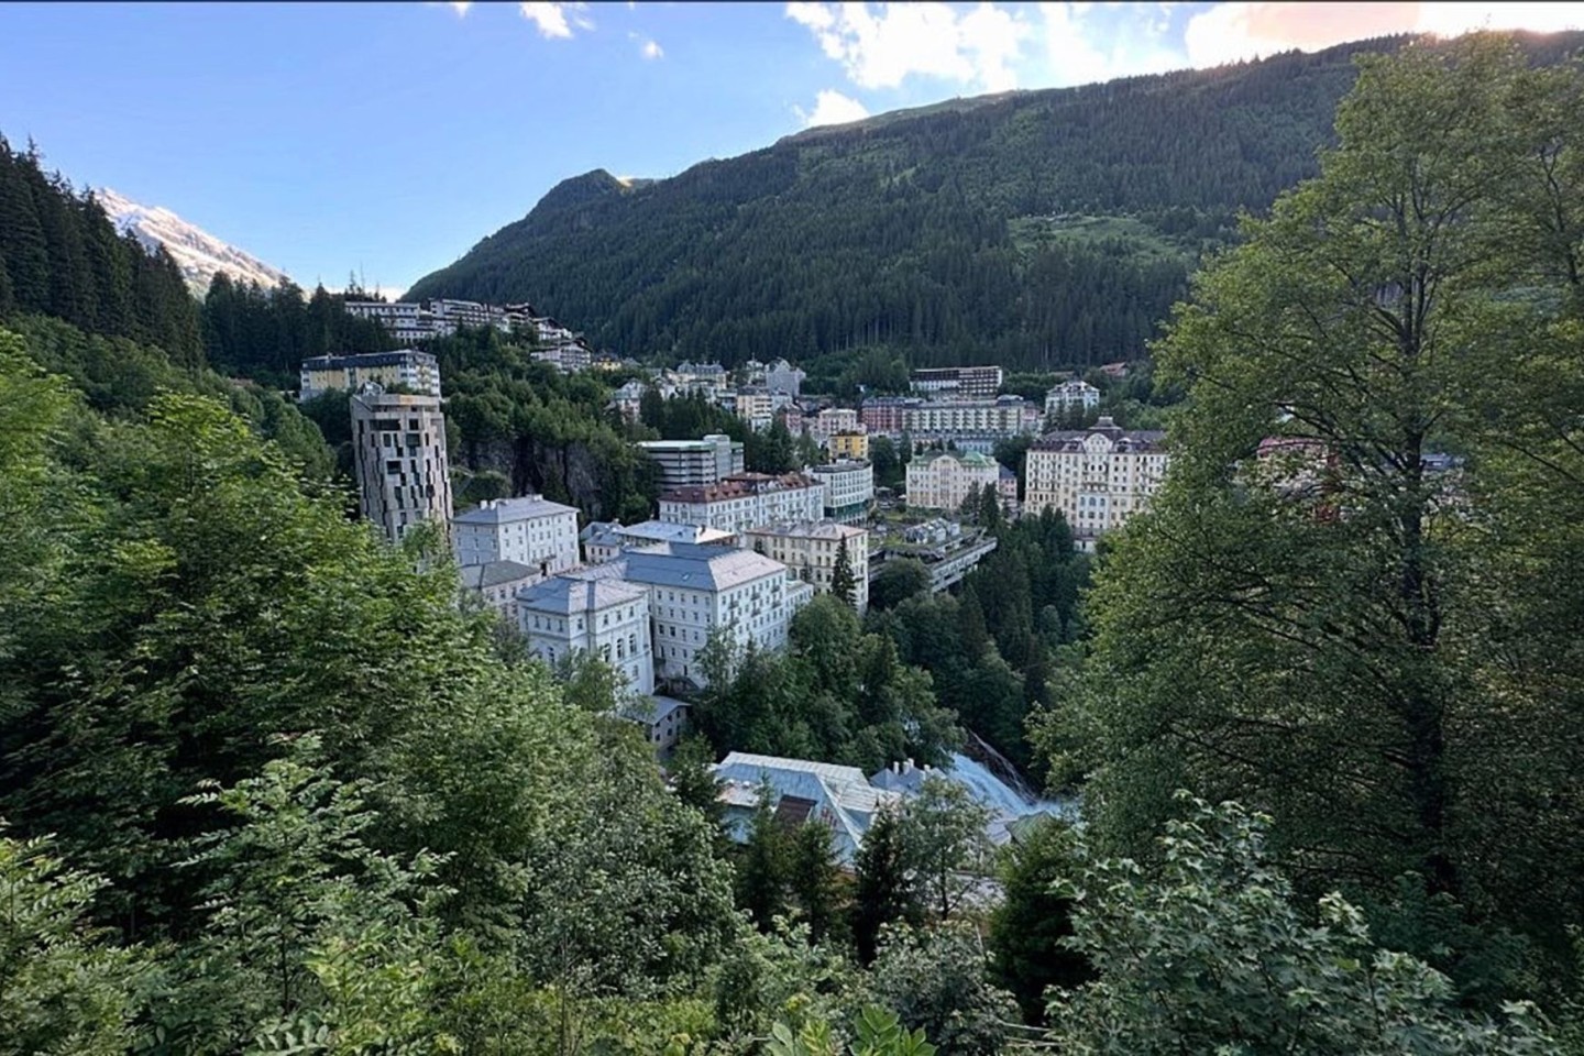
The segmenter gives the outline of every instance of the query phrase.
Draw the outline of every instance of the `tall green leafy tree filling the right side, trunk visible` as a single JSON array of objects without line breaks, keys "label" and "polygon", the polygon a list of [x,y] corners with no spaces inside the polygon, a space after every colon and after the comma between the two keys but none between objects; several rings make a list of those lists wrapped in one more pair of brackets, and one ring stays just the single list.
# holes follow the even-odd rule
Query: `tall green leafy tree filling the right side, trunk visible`
[{"label": "tall green leafy tree filling the right side, trunk visible", "polygon": [[1563,978],[1584,906],[1581,92],[1491,35],[1364,63],[1321,176],[1158,348],[1188,386],[1171,473],[1063,714],[1107,845],[1148,857],[1177,787],[1247,798],[1307,896],[1340,887],[1487,1007],[1513,936]]}]

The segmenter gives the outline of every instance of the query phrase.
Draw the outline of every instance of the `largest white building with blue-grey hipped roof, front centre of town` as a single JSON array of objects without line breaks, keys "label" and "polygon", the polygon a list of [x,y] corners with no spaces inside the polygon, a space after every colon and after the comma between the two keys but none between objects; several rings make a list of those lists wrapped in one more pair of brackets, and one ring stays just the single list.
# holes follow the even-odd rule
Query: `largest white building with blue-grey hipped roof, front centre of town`
[{"label": "largest white building with blue-grey hipped roof, front centre of town", "polygon": [[699,652],[711,630],[727,629],[740,646],[779,649],[792,614],[814,595],[786,565],[751,549],[659,543],[615,564],[623,579],[649,591],[656,674],[695,686],[706,682]]}]

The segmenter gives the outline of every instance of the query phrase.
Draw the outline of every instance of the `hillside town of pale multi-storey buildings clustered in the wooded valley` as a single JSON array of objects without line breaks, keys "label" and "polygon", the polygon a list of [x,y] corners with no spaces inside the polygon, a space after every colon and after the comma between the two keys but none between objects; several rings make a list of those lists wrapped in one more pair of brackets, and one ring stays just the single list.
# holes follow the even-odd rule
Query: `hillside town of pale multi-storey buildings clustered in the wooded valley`
[{"label": "hillside town of pale multi-storey buildings clustered in the wooded valley", "polygon": [[[844,404],[805,393],[806,374],[786,359],[642,369],[600,356],[531,306],[437,299],[347,307],[398,342],[421,345],[483,326],[526,339],[535,359],[564,374],[624,369],[634,377],[613,389],[608,407],[624,421],[638,418],[646,397],[702,397],[754,432],[784,427],[808,442],[816,458],[786,473],[749,472],[744,443],[725,434],[634,442],[653,465],[657,502],[649,519],[632,524],[597,521],[539,494],[459,510],[434,355],[406,347],[303,363],[299,399],[350,394],[363,516],[391,543],[418,526],[439,526],[463,591],[497,611],[551,667],[580,654],[608,665],[624,687],[623,717],[645,728],[662,760],[687,730],[691,700],[708,686],[711,636],[778,651],[794,614],[816,595],[833,594],[862,616],[873,581],[895,560],[923,564],[931,592],[954,589],[996,546],[979,526],[987,502],[1007,521],[1055,511],[1074,545],[1093,551],[1147,508],[1167,465],[1161,432],[1096,416],[1101,391],[1082,378],[1060,382],[1041,402],[1003,393],[996,366],[917,369],[911,394]],[[876,484],[871,443],[879,439],[908,454],[898,488]],[[1026,448],[1023,481],[995,459],[1006,442]],[[738,806],[754,795],[733,777],[744,758],[719,763],[722,795]],[[841,807],[851,793],[840,790],[852,779],[836,777],[840,768],[770,757],[754,765],[779,795],[819,785],[817,798],[846,819],[854,847],[862,841],[868,814]],[[1007,801],[1004,792],[993,798]],[[1004,834],[1012,814],[995,817]]]}]

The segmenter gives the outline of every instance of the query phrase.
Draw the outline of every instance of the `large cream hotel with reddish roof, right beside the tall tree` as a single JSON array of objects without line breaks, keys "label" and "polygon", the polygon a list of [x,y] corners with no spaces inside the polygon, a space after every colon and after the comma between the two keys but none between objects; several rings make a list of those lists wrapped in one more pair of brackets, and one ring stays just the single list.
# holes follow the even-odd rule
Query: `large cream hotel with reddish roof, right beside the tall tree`
[{"label": "large cream hotel with reddish roof, right beside the tall tree", "polygon": [[1049,432],[1028,450],[1023,508],[1060,510],[1083,549],[1150,503],[1166,477],[1158,431],[1128,432],[1109,416],[1090,429]]}]

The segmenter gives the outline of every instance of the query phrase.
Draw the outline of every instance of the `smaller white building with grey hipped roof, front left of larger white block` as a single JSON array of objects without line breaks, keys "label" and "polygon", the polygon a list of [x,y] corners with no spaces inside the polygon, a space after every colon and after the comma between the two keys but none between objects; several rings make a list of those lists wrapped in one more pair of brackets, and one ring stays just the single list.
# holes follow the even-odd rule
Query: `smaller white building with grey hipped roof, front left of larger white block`
[{"label": "smaller white building with grey hipped roof, front left of larger white block", "polygon": [[534,655],[556,663],[592,652],[611,665],[635,693],[654,692],[649,597],[621,579],[553,576],[516,595],[518,625]]}]

